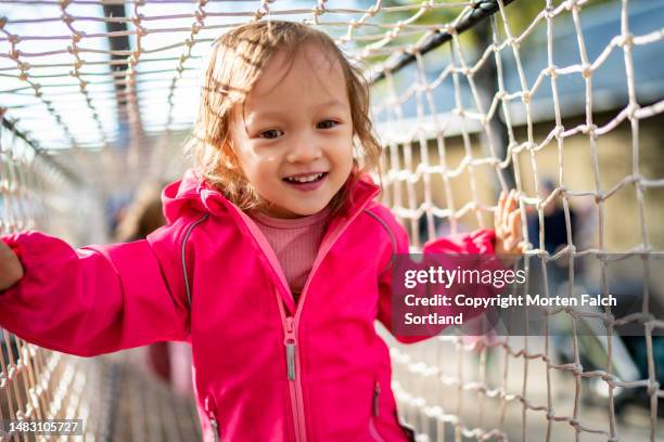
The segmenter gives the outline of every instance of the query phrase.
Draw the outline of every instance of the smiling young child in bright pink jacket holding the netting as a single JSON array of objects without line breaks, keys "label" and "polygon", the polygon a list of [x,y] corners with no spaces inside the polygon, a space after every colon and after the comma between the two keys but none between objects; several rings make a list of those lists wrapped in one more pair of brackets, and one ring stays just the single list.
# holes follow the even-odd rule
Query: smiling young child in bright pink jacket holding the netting
[{"label": "smiling young child in bright pink jacket holding the netting", "polygon": [[[374,328],[392,329],[391,265],[408,237],[365,173],[380,155],[368,96],[305,25],[224,35],[190,145],[196,169],[163,192],[168,225],[77,250],[39,232],[3,237],[0,325],[84,356],[190,342],[205,441],[412,438]],[[513,192],[496,226],[427,250],[521,251]]]}]

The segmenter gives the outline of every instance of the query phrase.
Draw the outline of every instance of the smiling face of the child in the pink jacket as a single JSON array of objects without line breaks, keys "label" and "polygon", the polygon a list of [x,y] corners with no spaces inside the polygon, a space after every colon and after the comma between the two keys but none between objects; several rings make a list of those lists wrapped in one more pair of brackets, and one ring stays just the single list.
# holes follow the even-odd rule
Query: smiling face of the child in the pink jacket
[{"label": "smiling face of the child in the pink jacket", "polygon": [[[336,60],[307,46],[292,61],[276,53],[233,109],[233,150],[268,214],[323,209],[353,168],[353,120]],[[292,55],[291,55],[292,56]]]}]

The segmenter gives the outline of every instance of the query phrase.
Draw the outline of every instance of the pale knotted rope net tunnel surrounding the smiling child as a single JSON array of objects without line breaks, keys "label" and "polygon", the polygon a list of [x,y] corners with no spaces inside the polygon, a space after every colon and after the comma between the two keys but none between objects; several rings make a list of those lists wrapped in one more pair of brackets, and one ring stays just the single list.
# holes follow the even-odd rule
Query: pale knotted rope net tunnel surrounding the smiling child
[{"label": "pale knotted rope net tunnel surrounding the smiling child", "polygon": [[[0,232],[103,240],[100,200],[181,170],[209,44],[241,23],[280,18],[324,30],[367,66],[385,146],[383,198],[413,251],[491,226],[497,193],[515,187],[533,243],[526,265],[540,258],[551,275],[570,263],[556,289],[574,296],[574,262],[590,258],[606,292],[616,252],[642,258],[642,281],[662,282],[650,271],[664,245],[655,222],[664,214],[664,75],[653,62],[664,55],[662,5],[2,1]],[[548,250],[553,208],[566,233]],[[593,315],[603,327],[595,334],[578,333],[584,313],[566,309],[575,326],[564,337],[390,341],[404,419],[431,440],[656,440],[664,321],[651,307],[664,299],[648,287],[641,313],[621,320],[606,308]],[[614,334],[616,321],[640,324],[637,353]],[[107,434],[94,430],[113,422],[94,408],[105,365],[3,338],[0,420],[76,416],[88,419],[88,437]],[[69,388],[74,378],[93,388]]]}]

